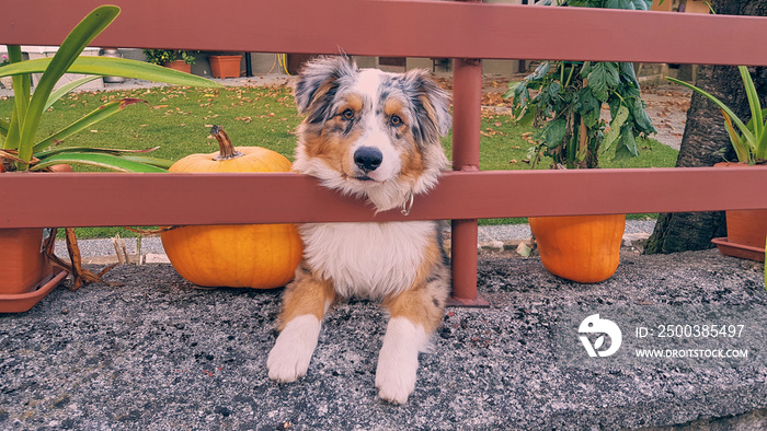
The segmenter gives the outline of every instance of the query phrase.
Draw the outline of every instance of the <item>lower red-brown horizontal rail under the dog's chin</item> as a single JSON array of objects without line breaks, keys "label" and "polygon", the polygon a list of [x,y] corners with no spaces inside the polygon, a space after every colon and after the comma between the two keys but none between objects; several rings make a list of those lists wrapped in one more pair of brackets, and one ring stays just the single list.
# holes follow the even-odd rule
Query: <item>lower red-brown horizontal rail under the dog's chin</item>
[{"label": "lower red-brown horizontal rail under the dog's chin", "polygon": [[[410,215],[297,174],[0,176],[0,228],[391,221],[767,208],[767,166],[448,172]],[[46,199],[34,199],[45,196]],[[321,210],[319,210],[321,209]]]}]

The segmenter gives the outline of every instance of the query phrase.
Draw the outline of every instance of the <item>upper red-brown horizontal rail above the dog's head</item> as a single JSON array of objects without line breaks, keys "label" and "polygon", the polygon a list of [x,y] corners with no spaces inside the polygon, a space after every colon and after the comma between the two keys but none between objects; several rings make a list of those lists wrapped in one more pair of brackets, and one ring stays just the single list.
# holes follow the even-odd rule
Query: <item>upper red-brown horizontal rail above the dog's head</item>
[{"label": "upper red-brown horizontal rail above the dog's head", "polygon": [[762,18],[444,1],[4,0],[0,43],[58,45],[105,2],[94,46],[767,66]]}]

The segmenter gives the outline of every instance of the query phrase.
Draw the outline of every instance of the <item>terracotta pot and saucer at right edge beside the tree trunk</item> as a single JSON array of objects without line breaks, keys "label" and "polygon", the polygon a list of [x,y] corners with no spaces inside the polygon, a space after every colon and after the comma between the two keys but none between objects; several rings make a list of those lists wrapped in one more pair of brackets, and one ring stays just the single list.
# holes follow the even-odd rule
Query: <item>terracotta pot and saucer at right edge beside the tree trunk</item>
[{"label": "terracotta pot and saucer at right edge beside the tree trunk", "polygon": [[[717,163],[714,166],[745,167],[743,163]],[[728,236],[713,238],[723,255],[751,260],[765,260],[767,210],[730,210],[726,213]]]}]

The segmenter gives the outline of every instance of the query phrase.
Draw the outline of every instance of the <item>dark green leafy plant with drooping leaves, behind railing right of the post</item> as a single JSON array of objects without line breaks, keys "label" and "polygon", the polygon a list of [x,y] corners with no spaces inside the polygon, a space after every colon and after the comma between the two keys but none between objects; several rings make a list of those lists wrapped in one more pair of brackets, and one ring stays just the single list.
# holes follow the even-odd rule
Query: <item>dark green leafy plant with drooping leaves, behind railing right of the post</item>
[{"label": "dark green leafy plant with drooping leaves, behind railing right of the post", "polygon": [[[565,0],[556,4],[648,10],[652,0]],[[531,95],[530,91],[537,93]],[[505,96],[514,97],[514,116],[519,123],[542,123],[528,152],[534,164],[548,155],[553,166],[598,167],[600,153],[613,151],[615,159],[636,156],[637,137],[656,132],[629,62],[543,61],[523,81],[510,84]],[[609,106],[609,123],[602,119],[603,104]]]}]

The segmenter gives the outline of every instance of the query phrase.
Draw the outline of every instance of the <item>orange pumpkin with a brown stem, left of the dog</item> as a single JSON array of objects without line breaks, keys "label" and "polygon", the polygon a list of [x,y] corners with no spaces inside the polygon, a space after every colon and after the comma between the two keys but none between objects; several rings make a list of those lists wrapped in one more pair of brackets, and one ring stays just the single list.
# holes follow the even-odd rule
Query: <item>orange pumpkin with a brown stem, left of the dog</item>
[{"label": "orange pumpkin with a brown stem, left of the dog", "polygon": [[[260,147],[234,148],[214,126],[219,151],[192,154],[170,172],[289,172],[290,161]],[[289,282],[301,260],[295,224],[180,226],[160,234],[173,268],[204,287],[271,289]]]}]

